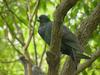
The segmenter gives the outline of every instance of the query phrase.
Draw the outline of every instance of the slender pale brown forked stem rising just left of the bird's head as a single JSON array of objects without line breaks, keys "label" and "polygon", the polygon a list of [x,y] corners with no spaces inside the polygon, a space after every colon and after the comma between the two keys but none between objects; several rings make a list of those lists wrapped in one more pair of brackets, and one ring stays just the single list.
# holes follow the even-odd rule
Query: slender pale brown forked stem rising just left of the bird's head
[{"label": "slender pale brown forked stem rising just left of the bird's head", "polygon": [[[40,0],[37,1],[37,5],[35,7],[36,9],[34,10],[34,12],[36,12],[36,13],[33,13],[32,15],[37,14],[39,3],[40,3]],[[28,12],[30,12],[30,5],[28,5]],[[32,62],[32,60],[30,58],[30,55],[29,55],[29,52],[28,52],[27,48],[29,47],[31,39],[32,39],[32,37],[34,35],[34,27],[32,26],[32,20],[33,20],[33,16],[31,16],[31,13],[29,13],[28,14],[29,38],[28,38],[25,46],[23,47],[24,48],[23,50],[25,52],[24,54],[25,54],[26,58],[28,58],[28,60],[30,62]],[[35,21],[36,21],[36,19],[35,19]],[[35,22],[34,22],[34,25],[35,25]],[[31,63],[27,63],[26,65],[27,65],[26,66],[27,67],[27,70],[26,70],[27,71],[27,75],[32,75],[32,64]]]}]

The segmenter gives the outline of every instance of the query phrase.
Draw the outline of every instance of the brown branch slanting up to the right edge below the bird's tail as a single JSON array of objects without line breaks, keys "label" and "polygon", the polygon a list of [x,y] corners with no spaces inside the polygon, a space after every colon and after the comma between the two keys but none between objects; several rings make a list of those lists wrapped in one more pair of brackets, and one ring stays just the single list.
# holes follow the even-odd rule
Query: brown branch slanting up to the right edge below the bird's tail
[{"label": "brown branch slanting up to the right edge below the bird's tail", "polygon": [[93,53],[91,55],[91,58],[90,60],[86,60],[83,64],[80,64],[78,66],[78,69],[76,71],[76,74],[82,72],[84,69],[86,69],[87,67],[91,66],[91,64],[98,58],[100,57],[100,49],[98,49],[95,53]]}]

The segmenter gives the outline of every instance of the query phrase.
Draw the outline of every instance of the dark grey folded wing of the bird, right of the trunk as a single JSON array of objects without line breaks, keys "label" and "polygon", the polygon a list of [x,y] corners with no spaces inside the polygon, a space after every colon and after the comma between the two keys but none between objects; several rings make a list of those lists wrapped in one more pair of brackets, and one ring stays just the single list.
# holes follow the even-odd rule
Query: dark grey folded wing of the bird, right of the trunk
[{"label": "dark grey folded wing of the bird, right of the trunk", "polygon": [[77,37],[65,26],[63,26],[62,44],[70,46],[75,50],[80,50],[80,45]]}]

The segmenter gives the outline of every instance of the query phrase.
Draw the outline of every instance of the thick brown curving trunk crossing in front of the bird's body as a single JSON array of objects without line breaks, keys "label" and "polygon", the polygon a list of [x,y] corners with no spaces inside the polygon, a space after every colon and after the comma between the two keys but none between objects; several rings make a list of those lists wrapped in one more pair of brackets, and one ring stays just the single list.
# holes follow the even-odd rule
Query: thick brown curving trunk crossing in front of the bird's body
[{"label": "thick brown curving trunk crossing in front of the bird's body", "polygon": [[77,0],[63,0],[54,13],[50,51],[47,52],[47,62],[49,65],[48,75],[58,75],[62,37],[61,28],[65,15],[76,2]]}]

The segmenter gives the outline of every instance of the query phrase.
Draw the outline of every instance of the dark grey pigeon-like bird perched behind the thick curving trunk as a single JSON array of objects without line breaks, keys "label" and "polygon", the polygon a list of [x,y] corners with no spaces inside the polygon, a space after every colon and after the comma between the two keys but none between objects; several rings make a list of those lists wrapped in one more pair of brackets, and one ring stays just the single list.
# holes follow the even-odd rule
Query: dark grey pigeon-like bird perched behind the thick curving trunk
[{"label": "dark grey pigeon-like bird perched behind the thick curving trunk", "polygon": [[[51,41],[51,30],[52,21],[46,15],[41,15],[38,19],[40,23],[38,33],[43,38],[43,40],[50,45]],[[62,39],[61,39],[61,53],[67,54],[72,57],[73,60],[76,58],[89,59],[90,57],[83,55],[81,53],[81,46],[78,42],[77,37],[63,25],[62,27]]]}]

